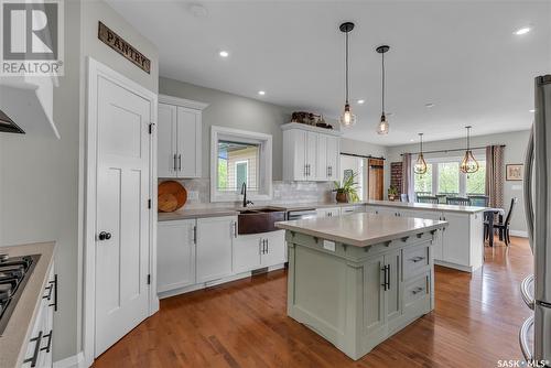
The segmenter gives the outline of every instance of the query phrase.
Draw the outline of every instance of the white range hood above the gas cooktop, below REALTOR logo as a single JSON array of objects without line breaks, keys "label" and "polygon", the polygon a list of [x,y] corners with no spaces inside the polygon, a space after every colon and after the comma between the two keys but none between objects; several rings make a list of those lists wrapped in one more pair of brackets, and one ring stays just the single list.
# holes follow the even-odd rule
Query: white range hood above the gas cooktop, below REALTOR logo
[{"label": "white range hood above the gas cooktop, below REALTOR logo", "polygon": [[0,136],[26,133],[55,137],[53,119],[56,77],[0,77]]}]

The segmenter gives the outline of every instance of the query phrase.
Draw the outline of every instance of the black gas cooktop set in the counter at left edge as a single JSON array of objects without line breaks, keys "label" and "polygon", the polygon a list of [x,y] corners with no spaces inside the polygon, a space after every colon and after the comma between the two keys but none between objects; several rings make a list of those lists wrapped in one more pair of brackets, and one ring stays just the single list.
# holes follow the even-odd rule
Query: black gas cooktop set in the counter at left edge
[{"label": "black gas cooktop set in the counter at left edge", "polygon": [[40,255],[22,257],[0,255],[0,336],[39,259]]}]

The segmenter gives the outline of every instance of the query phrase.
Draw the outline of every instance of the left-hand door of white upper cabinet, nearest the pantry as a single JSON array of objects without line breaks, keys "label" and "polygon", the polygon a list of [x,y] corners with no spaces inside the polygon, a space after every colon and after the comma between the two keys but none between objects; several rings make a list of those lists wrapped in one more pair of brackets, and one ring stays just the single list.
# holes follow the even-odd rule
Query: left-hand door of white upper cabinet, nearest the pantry
[{"label": "left-hand door of white upper cabinet, nearest the pantry", "polygon": [[156,138],[156,175],[159,177],[175,177],[177,169],[175,106],[159,104]]}]

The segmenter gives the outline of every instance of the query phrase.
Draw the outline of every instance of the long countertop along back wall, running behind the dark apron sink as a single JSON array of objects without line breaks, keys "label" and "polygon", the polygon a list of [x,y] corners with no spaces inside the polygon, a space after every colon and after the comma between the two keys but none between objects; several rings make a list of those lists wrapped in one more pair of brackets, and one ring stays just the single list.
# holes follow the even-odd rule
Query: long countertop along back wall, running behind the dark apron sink
[{"label": "long countertop along back wall, running behind the dark apron sink", "polygon": [[[281,210],[304,210],[304,209],[316,209],[316,208],[331,208],[331,207],[349,207],[349,206],[363,206],[365,202],[357,203],[327,203],[327,202],[318,202],[318,203],[276,203],[273,205],[258,205],[258,206],[249,206],[247,209],[255,208],[274,208]],[[182,208],[173,213],[159,213],[158,220],[159,221],[170,221],[177,219],[192,219],[192,218],[204,218],[204,217],[217,217],[217,216],[237,216],[239,210],[244,210],[244,207],[202,207],[202,208]]]}]

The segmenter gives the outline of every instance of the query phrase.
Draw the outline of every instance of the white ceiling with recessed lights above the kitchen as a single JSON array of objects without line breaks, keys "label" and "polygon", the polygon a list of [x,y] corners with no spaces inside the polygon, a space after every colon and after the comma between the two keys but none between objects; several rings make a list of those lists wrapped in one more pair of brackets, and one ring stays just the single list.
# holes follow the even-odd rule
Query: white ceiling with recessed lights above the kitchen
[{"label": "white ceiling with recessed lights above the kitchen", "polygon": [[[344,105],[338,24],[354,21],[350,99],[366,104],[345,137],[383,145],[527,129],[533,77],[551,73],[551,1],[204,1],[206,17],[184,1],[108,2],[158,45],[162,76],[327,117]],[[387,137],[375,133],[383,43]]]}]

